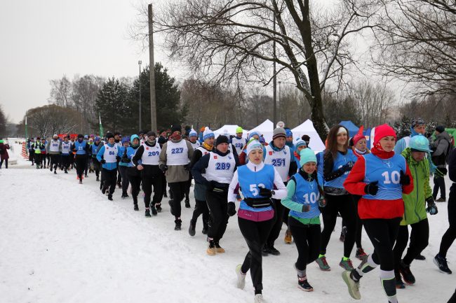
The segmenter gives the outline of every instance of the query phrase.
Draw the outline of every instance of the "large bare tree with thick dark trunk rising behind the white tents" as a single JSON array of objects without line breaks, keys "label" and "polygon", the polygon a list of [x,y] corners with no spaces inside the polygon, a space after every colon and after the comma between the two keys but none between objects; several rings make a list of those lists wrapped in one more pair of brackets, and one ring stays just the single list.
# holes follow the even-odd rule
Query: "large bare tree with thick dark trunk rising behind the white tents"
[{"label": "large bare tree with thick dark trunk rising behind the white tents", "polygon": [[321,90],[328,80],[342,83],[347,65],[356,63],[348,38],[375,26],[374,2],[340,0],[323,9],[309,0],[166,1],[154,27],[166,34],[172,58],[217,83],[267,85],[275,62],[281,77],[294,79],[325,136]]}]

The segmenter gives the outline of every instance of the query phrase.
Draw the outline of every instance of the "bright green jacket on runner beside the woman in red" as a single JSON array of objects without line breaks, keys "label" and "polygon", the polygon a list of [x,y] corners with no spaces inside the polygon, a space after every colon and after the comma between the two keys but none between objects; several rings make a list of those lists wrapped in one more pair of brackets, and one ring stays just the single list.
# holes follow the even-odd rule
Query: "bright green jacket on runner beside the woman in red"
[{"label": "bright green jacket on runner beside the woman in red", "polygon": [[429,162],[426,159],[416,162],[412,157],[411,148],[405,148],[401,155],[405,157],[413,176],[413,191],[408,195],[402,195],[405,211],[401,225],[410,225],[427,218],[426,199],[432,195],[429,185]]}]

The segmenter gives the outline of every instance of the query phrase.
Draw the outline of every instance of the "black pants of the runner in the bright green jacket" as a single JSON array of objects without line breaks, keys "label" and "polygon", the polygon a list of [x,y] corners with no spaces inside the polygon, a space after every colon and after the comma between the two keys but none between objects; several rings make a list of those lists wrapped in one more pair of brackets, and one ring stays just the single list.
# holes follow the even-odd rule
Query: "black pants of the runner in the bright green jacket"
[{"label": "black pants of the runner in the bright green jacket", "polygon": [[[408,246],[407,253],[403,261],[405,265],[412,264],[412,261],[417,255],[427,247],[429,243],[429,222],[427,219],[421,220],[418,223],[411,224],[412,232],[410,233],[410,245]],[[408,243],[408,225],[401,225],[399,227],[396,244],[394,245],[394,265],[396,274],[399,271],[403,251]]]}]

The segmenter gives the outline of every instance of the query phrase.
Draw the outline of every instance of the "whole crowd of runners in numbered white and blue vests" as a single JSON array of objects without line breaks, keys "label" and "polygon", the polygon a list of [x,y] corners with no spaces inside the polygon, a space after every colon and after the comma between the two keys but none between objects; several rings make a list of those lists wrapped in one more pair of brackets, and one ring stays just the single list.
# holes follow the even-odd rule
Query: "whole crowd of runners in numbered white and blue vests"
[{"label": "whole crowd of runners in numbered white and blue vests", "polygon": [[[283,223],[287,225],[284,241],[294,241],[297,248],[297,286],[312,291],[307,265],[316,261],[322,271],[330,271],[326,251],[337,216],[341,216],[347,232],[339,265],[344,269],[342,279],[349,295],[361,299],[361,278],[380,266],[387,300],[396,303],[396,289],[415,284],[410,265],[428,244],[427,213],[438,213],[429,178],[439,171],[429,156],[429,141],[422,131],[424,121],[413,121],[413,134],[398,144],[394,129],[377,126],[370,150],[362,129],[350,139],[341,125],[330,129],[326,150],[320,153],[309,148],[309,136],[296,140],[290,129],[282,127],[274,129],[267,143],[257,132],[245,138],[241,127],[234,136],[222,134],[215,138],[208,127],[200,134],[193,129],[182,134],[182,128],[176,125],[169,132],[161,132],[159,138],[147,131],[123,138],[119,133],[108,133],[103,140],[83,135],[77,139],[54,135],[48,142],[37,138],[29,142],[29,153],[34,155],[31,160],[36,168],[46,168],[49,159],[47,165],[54,174],[59,167],[67,173],[75,166],[79,183],[88,176],[87,169],[89,173],[93,170],[100,190],[109,200],[116,186],[121,188],[122,198],[128,198],[130,185],[135,211],[139,210],[142,189],[146,217],[162,211],[161,202],[169,186],[168,204],[175,230],[182,229],[182,201],[185,207],[191,207],[189,190],[194,179],[195,206],[189,235],[196,234],[196,223],[202,215],[202,233],[207,234],[208,241],[206,253],[224,253],[220,241],[229,217],[237,213],[248,253],[236,267],[236,286],[244,288],[250,270],[255,303],[264,302],[262,257],[280,255],[274,244]],[[456,182],[453,154],[448,171]],[[450,190],[450,227],[434,258],[438,268],[448,274],[451,270],[446,252],[456,238],[454,199]],[[410,244],[403,256],[409,240],[408,225],[412,227]],[[370,255],[361,245],[363,227],[374,246]],[[361,260],[358,267],[351,261],[355,242],[356,258]]]}]

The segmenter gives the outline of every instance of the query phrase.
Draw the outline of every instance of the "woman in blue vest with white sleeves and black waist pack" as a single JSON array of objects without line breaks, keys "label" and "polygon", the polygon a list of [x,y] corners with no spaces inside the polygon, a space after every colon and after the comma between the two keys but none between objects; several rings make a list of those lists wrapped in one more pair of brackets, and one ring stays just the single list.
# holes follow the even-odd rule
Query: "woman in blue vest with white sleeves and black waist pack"
[{"label": "woman in blue vest with white sleeves and black waist pack", "polygon": [[[250,269],[255,303],[264,302],[262,297],[262,248],[276,221],[271,198],[286,197],[286,187],[274,166],[263,163],[263,146],[257,140],[251,141],[246,149],[248,163],[234,172],[228,190],[228,214],[234,216],[238,199],[237,188],[241,189],[244,199],[238,210],[239,229],[246,240],[248,253],[242,265],[236,267],[237,287],[246,285],[246,274]],[[274,186],[276,190],[274,190]]]}]

